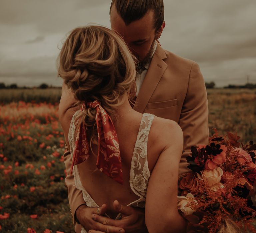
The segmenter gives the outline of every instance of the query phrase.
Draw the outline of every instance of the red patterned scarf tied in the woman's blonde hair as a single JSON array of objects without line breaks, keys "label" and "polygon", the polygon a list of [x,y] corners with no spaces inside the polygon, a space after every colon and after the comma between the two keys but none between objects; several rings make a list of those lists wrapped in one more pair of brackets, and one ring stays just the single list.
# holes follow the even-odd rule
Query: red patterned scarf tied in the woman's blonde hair
[{"label": "red patterned scarf tied in the woman's blonde hair", "polygon": [[[114,179],[116,182],[123,184],[122,163],[119,150],[119,142],[115,126],[108,113],[101,107],[98,101],[86,102],[81,107],[96,109],[96,124],[98,131],[98,155],[96,166],[100,171]],[[76,132],[73,161],[70,169],[72,173],[73,166],[89,158],[89,142],[86,136],[86,126],[82,122]]]}]

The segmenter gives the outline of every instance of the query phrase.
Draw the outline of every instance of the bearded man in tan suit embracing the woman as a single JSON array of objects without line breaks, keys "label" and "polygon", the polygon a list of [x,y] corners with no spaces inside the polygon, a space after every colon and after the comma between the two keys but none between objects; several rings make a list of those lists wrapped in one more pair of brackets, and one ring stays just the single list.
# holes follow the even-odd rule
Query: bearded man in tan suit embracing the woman
[{"label": "bearded man in tan suit embracing the woman", "polygon": [[[190,147],[208,143],[208,102],[198,65],[164,50],[158,43],[165,27],[163,0],[112,0],[110,22],[111,28],[123,37],[139,60],[134,109],[179,123],[184,135],[179,175],[187,172],[186,156],[190,154]],[[60,107],[67,102],[72,106],[75,100],[63,86]],[[75,107],[70,109],[76,111]],[[60,119],[65,111],[60,112]],[[64,161],[69,174],[69,151],[65,152]],[[65,181],[76,232],[81,232],[78,223],[93,229],[92,233],[118,232],[120,228],[125,232],[146,232],[141,210],[120,205],[119,212],[125,217],[107,219],[99,215],[104,214],[105,209],[86,206],[81,191],[74,186],[73,175],[68,175]]]}]

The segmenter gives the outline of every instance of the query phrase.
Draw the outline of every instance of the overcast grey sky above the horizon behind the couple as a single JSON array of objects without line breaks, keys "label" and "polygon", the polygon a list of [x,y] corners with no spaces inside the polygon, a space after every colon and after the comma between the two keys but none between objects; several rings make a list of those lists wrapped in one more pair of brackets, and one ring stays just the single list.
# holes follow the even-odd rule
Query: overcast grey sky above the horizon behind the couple
[{"label": "overcast grey sky above the horizon behind the couple", "polygon": [[[111,0],[0,0],[0,82],[61,86],[56,58],[67,33],[110,27]],[[162,47],[196,61],[206,82],[256,83],[256,0],[164,0]]]}]

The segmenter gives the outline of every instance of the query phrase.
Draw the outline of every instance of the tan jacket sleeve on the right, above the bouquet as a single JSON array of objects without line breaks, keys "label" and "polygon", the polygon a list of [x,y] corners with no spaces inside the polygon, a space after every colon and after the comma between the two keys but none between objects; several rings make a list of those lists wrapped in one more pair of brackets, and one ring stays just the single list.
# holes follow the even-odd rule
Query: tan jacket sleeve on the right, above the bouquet
[{"label": "tan jacket sleeve on the right, above the bouquet", "polygon": [[208,101],[205,83],[197,63],[193,63],[189,74],[187,94],[182,106],[179,125],[184,135],[184,146],[180,160],[179,175],[190,170],[186,157],[191,155],[191,146],[208,144]]}]

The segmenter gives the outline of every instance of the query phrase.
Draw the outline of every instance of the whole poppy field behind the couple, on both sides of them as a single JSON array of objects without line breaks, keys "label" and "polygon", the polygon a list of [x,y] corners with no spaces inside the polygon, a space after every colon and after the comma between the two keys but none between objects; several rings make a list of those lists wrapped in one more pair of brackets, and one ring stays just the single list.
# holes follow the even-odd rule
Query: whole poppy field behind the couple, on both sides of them
[{"label": "whole poppy field behind the couple, on both sides of them", "polygon": [[[65,186],[60,89],[0,91],[0,231],[74,232]],[[209,129],[256,140],[256,91],[208,90]]]}]

